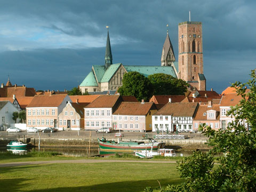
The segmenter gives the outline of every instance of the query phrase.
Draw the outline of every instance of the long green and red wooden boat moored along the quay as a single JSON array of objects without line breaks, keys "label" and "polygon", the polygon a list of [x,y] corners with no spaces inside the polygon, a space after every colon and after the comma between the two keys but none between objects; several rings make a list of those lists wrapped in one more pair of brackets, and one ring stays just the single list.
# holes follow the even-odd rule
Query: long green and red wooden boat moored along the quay
[{"label": "long green and red wooden boat moored along the quay", "polygon": [[164,142],[156,142],[150,139],[149,142],[144,141],[107,141],[98,138],[99,147],[101,150],[115,150],[115,151],[134,151],[134,150],[157,150],[165,146]]}]

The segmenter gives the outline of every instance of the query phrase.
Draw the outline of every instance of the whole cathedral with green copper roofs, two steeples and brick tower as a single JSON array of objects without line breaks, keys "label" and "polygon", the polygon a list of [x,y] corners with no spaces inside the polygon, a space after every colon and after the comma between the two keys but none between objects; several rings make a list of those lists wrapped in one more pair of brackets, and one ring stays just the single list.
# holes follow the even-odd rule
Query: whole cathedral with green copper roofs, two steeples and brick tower
[{"label": "whole cathedral with green copper roofs, two steeples and brick tower", "polygon": [[175,61],[173,46],[167,31],[163,45],[161,66],[131,66],[112,62],[109,31],[105,53],[105,65],[93,65],[90,73],[79,85],[82,93],[118,90],[122,86],[125,73],[138,71],[148,77],[156,73],[172,75],[186,81],[190,90],[206,90],[203,73],[202,22],[186,21],[179,23],[179,57]]}]

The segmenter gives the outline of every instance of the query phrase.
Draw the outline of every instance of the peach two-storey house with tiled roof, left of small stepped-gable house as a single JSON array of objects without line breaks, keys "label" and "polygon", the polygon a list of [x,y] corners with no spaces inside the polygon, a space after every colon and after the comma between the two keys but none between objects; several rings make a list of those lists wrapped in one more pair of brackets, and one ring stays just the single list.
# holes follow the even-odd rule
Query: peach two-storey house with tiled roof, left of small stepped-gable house
[{"label": "peach two-storey house with tiled roof, left of small stepped-gable house", "polygon": [[35,95],[26,107],[27,127],[59,127],[58,116],[68,101],[67,94]]}]

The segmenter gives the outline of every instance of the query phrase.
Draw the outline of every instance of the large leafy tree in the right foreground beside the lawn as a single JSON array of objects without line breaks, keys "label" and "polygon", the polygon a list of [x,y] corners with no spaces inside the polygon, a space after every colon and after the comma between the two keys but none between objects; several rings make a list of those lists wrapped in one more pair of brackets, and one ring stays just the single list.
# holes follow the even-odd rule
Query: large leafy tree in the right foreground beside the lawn
[{"label": "large leafy tree in the right foreground beside the lawn", "polygon": [[[235,116],[227,130],[212,130],[206,126],[204,134],[213,148],[209,153],[194,151],[179,162],[181,185],[171,185],[161,191],[255,191],[256,189],[256,75],[247,83],[236,82],[239,105],[231,107],[227,115]],[[246,85],[250,92],[246,92]],[[247,123],[242,123],[242,119]],[[251,126],[251,130],[247,129]],[[234,131],[231,131],[234,130]],[[220,155],[213,161],[214,155]],[[213,163],[214,169],[213,169]]]}]

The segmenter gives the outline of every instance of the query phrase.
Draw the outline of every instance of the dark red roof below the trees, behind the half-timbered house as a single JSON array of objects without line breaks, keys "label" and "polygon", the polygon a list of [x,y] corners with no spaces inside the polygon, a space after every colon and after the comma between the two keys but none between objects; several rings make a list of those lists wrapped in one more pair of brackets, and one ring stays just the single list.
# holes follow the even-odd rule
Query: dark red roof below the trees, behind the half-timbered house
[{"label": "dark red roof below the trees, behind the half-timbered house", "polygon": [[155,104],[166,104],[169,102],[169,98],[171,98],[171,102],[181,102],[185,99],[185,95],[153,95],[149,102],[154,102]]}]

